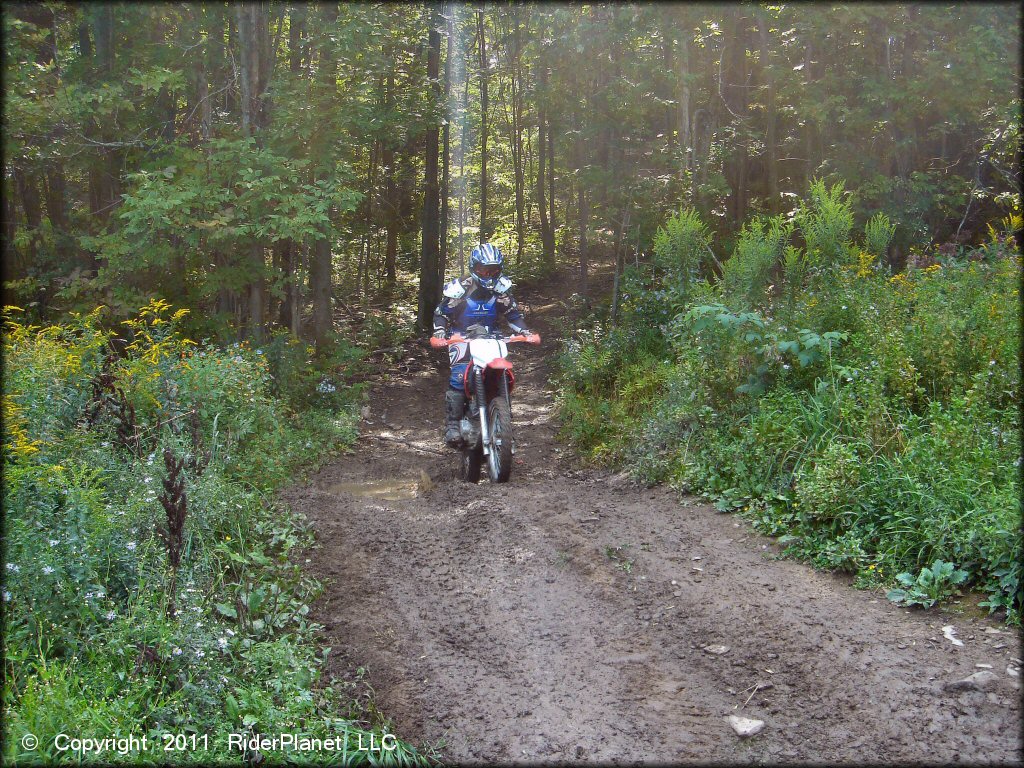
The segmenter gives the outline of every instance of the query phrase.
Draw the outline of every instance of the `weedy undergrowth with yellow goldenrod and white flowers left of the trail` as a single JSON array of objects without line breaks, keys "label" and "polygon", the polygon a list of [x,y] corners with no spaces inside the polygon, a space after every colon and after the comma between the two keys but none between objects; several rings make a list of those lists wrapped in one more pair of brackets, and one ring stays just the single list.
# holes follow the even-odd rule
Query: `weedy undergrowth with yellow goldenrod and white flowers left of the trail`
[{"label": "weedy undergrowth with yellow goldenrod and white flowers left of the trail", "polygon": [[[362,352],[338,340],[317,357],[287,335],[197,343],[160,301],[116,332],[100,310],[17,317],[8,307],[4,760],[241,763],[255,757],[229,734],[290,732],[344,749],[262,757],[423,762],[390,739],[359,750],[387,724],[322,680],[321,585],[299,564],[312,532],[271,500],[355,438],[346,379]],[[58,733],[150,745],[83,756]],[[183,749],[165,751],[167,734]]]}]

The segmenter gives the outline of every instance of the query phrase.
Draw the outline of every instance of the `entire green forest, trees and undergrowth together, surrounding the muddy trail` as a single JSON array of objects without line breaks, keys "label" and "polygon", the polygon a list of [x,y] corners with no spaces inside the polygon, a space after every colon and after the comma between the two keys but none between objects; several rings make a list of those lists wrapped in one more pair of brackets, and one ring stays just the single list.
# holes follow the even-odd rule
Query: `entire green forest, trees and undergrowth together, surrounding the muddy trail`
[{"label": "entire green forest, trees and undergrowth together, surrounding the muddy trail", "polygon": [[274,494],[483,242],[573,307],[583,461],[1019,625],[1018,4],[2,14],[5,759],[386,731]]}]

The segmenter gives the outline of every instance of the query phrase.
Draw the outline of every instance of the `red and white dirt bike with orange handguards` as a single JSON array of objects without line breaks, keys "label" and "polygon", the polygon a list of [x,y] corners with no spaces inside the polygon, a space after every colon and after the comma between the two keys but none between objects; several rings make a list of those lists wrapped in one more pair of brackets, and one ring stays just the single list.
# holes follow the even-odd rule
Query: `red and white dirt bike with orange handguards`
[{"label": "red and white dirt bike with orange handguards", "polygon": [[[487,460],[492,482],[507,482],[512,474],[515,439],[512,436],[512,389],[515,376],[512,364],[505,359],[508,345],[516,342],[540,344],[538,334],[502,336],[474,332],[470,338],[455,334],[447,339],[432,338],[430,346],[469,344],[472,365],[466,372],[466,414],[460,423],[462,460],[459,477],[466,482],[480,479],[480,468]],[[481,408],[480,404],[483,403]]]}]

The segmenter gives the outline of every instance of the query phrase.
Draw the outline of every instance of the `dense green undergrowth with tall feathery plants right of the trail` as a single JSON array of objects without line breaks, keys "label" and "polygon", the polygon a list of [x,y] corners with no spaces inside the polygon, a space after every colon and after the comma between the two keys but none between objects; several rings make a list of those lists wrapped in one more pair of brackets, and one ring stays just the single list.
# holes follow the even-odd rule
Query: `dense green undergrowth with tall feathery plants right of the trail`
[{"label": "dense green undergrowth with tall feathery plants right of the trail", "polygon": [[[955,567],[929,600],[973,589],[1019,624],[1019,217],[895,274],[888,220],[859,243],[852,224],[842,186],[816,183],[792,222],[743,228],[721,281],[680,280],[685,254],[628,269],[620,324],[562,352],[563,433],[858,586]],[[685,211],[667,228],[655,251],[705,237]]]}]

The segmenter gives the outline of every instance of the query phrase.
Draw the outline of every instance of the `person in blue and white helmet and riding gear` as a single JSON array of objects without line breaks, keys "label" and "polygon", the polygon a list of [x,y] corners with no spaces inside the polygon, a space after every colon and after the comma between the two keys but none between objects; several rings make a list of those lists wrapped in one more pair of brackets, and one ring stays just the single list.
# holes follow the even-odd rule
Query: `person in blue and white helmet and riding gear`
[{"label": "person in blue and white helmet and riding gear", "polygon": [[[529,334],[522,311],[509,292],[512,281],[502,275],[505,261],[502,251],[490,243],[473,249],[469,257],[468,278],[456,278],[444,286],[441,303],[434,310],[434,336],[451,333],[466,335],[471,326],[483,326],[488,333],[498,330],[502,317],[514,333]],[[462,442],[459,422],[466,411],[466,375],[469,371],[469,345],[449,347],[452,375],[444,393],[444,442],[458,447]]]}]

